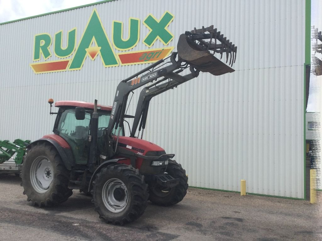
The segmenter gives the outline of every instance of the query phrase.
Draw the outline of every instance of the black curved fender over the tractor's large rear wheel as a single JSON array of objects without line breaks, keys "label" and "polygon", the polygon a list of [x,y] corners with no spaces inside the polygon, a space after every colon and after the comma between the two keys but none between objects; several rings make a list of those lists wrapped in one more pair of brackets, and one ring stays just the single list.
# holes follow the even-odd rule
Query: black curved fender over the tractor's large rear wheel
[{"label": "black curved fender over the tractor's large rear wheel", "polygon": [[48,142],[48,143],[52,144],[56,148],[56,150],[58,151],[59,155],[61,156],[66,169],[71,170],[71,167],[74,166],[74,164],[75,164],[74,155],[71,151],[71,148],[63,148],[55,140],[42,138],[42,139],[39,139],[39,140],[36,140],[36,141],[30,143],[28,146],[26,146],[26,149],[28,149],[28,147],[30,147],[33,144],[36,144],[38,142],[45,142],[45,143]]}]

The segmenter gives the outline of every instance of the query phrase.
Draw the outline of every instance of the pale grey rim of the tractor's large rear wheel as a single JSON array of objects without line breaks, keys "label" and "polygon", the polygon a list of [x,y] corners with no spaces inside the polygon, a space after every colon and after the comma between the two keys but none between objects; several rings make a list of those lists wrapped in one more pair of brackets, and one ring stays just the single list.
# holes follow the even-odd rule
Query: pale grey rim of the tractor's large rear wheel
[{"label": "pale grey rim of the tractor's large rear wheel", "polygon": [[39,156],[31,165],[30,181],[33,189],[38,193],[45,193],[53,180],[52,163],[45,156]]}]

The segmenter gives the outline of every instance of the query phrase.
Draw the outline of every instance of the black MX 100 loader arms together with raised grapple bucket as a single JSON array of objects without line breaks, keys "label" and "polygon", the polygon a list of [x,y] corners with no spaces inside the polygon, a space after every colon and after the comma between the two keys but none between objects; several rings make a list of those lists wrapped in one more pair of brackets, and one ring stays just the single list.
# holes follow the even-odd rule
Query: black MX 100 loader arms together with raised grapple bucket
[{"label": "black MX 100 loader arms together with raised grapple bucket", "polygon": [[[209,41],[207,42],[205,40]],[[153,96],[197,77],[200,71],[209,72],[216,76],[235,71],[214,56],[216,53],[219,53],[222,58],[223,53],[225,53],[227,63],[230,55],[229,65],[232,66],[236,59],[237,47],[230,40],[226,40],[226,37],[223,37],[220,31],[214,29],[213,25],[207,28],[203,26],[201,29],[194,28],[192,31],[186,31],[184,34],[181,34],[177,44],[177,50],[178,52],[173,52],[167,58],[157,61],[118,84],[109,124],[104,131],[105,151],[103,156],[111,157],[116,152],[118,138],[116,140],[116,148],[113,150],[115,138],[112,137],[112,130],[113,128],[117,129],[123,126],[128,95],[132,91],[158,78],[162,78],[154,85],[144,88],[140,94],[134,125],[131,131],[131,137],[134,137],[140,119],[140,129],[142,126],[143,128],[145,127],[149,101]],[[165,62],[167,59],[169,61]],[[185,76],[179,75],[187,67],[190,67],[191,73]],[[168,82],[161,84],[161,82],[167,79],[169,79]],[[157,84],[159,85],[157,86]]]}]

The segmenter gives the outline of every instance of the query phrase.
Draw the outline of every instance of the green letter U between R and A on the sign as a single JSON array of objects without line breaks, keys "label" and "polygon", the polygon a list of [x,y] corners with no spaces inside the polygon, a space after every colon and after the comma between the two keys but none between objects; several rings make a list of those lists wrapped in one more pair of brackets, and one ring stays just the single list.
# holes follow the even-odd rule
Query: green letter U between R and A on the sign
[{"label": "green letter U between R and A on the sign", "polygon": [[68,32],[67,35],[67,47],[62,47],[62,31],[55,34],[54,38],[54,53],[59,58],[66,58],[72,54],[76,46],[76,28]]}]

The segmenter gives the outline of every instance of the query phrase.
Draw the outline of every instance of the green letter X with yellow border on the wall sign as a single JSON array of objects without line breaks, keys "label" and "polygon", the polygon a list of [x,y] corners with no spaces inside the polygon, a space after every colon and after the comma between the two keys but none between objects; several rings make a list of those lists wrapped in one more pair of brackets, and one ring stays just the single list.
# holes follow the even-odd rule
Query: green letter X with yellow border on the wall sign
[{"label": "green letter X with yellow border on the wall sign", "polygon": [[167,11],[163,14],[159,22],[152,14],[148,15],[143,23],[147,26],[150,32],[143,40],[143,43],[150,48],[158,38],[164,45],[169,44],[173,39],[173,34],[167,29],[167,27],[173,18],[174,16]]}]

